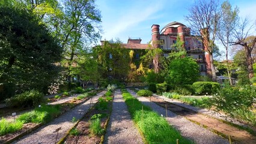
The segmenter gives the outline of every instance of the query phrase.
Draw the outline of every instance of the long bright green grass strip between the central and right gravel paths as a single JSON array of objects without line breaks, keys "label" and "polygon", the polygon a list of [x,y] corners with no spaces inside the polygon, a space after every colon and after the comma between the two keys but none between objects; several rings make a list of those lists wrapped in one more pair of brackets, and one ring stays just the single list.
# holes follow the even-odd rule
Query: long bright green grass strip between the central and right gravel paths
[{"label": "long bright green grass strip between the central and right gravel paths", "polygon": [[[157,115],[150,107],[144,106],[128,92],[123,93],[133,121],[144,134],[147,143],[194,143],[181,136],[180,132],[171,127],[165,118]],[[142,110],[143,106],[143,110]]]}]

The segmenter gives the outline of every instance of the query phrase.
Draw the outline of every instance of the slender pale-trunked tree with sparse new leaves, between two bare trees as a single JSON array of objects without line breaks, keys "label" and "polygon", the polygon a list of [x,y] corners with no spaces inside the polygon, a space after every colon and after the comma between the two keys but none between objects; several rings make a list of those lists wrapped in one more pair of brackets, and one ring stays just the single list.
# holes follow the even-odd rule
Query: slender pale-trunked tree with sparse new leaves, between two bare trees
[{"label": "slender pale-trunked tree with sparse new leaves, between two bare trees", "polygon": [[230,50],[230,43],[234,41],[234,31],[236,29],[237,23],[239,22],[239,8],[235,7],[234,10],[231,7],[229,1],[224,1],[221,5],[221,19],[218,26],[217,36],[226,50],[226,64],[227,73],[230,80],[230,85],[232,85],[230,67],[228,64],[228,52]]}]

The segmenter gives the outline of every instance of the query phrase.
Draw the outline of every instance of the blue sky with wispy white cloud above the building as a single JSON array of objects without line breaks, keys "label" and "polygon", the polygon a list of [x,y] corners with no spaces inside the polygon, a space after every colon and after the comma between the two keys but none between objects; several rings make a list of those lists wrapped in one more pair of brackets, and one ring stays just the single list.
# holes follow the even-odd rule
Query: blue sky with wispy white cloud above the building
[{"label": "blue sky with wispy white cloud above the building", "polygon": [[[148,43],[153,24],[160,25],[160,29],[174,21],[187,25],[184,16],[193,3],[194,0],[96,0],[102,14],[102,40],[120,38],[127,43],[130,37]],[[239,7],[241,17],[249,16],[255,22],[255,0],[233,0],[230,3],[233,8]]]}]

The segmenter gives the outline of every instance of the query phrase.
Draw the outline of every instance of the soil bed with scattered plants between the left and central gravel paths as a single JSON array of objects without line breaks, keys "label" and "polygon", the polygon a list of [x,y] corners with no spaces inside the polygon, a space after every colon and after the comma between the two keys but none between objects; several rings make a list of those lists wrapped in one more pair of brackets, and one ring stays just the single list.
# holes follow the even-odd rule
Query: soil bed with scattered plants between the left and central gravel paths
[{"label": "soil bed with scattered plants between the left and central gravel paths", "polygon": [[[102,97],[104,100],[106,97]],[[109,98],[109,97],[108,97]],[[112,99],[113,97],[111,97]],[[90,111],[78,122],[76,127],[70,130],[69,136],[66,138],[65,143],[102,143],[103,135],[108,125],[108,119],[111,115],[112,100],[108,100],[107,105],[101,106],[102,100],[100,100]],[[105,103],[105,102],[103,102]],[[104,105],[104,104],[103,104]],[[91,122],[100,119],[100,127],[98,131],[103,130],[99,134],[91,133]],[[103,129],[102,129],[103,128]]]}]

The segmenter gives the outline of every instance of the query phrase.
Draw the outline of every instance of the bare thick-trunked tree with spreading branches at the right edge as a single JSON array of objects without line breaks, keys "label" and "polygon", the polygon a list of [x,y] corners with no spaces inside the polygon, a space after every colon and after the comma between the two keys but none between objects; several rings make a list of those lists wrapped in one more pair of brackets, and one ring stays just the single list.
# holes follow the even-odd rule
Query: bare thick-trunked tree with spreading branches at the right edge
[{"label": "bare thick-trunked tree with spreading branches at the right edge", "polygon": [[256,37],[249,36],[252,28],[253,25],[250,25],[247,17],[241,20],[237,25],[237,29],[234,30],[235,40],[231,42],[231,44],[243,46],[245,49],[249,79],[254,77],[254,69],[252,67],[252,50],[254,49],[256,43]]}]

